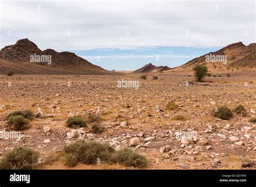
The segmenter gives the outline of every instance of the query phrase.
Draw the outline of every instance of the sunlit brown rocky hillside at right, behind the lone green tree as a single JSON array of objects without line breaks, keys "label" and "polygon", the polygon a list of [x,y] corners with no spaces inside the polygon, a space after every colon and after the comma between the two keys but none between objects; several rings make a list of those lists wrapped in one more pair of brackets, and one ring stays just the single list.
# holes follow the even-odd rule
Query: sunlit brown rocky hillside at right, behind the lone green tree
[{"label": "sunlit brown rocky hillside at right, behind the lone green tree", "polygon": [[245,46],[237,42],[188,61],[179,69],[191,70],[196,64],[204,64],[214,69],[254,69],[256,68],[256,44]]}]

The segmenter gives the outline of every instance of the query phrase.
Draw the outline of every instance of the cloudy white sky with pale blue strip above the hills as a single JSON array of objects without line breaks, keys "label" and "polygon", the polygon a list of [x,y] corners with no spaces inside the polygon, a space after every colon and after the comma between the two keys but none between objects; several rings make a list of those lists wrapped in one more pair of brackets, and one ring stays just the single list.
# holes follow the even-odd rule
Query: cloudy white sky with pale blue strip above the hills
[{"label": "cloudy white sky with pale blue strip above the hills", "polygon": [[1,48],[28,38],[109,70],[179,66],[256,38],[255,1],[0,2]]}]

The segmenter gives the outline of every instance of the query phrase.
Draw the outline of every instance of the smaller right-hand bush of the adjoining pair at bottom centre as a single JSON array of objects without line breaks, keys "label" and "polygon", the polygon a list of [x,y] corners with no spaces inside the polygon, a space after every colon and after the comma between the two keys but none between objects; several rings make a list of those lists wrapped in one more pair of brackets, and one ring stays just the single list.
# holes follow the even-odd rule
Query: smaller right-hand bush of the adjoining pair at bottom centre
[{"label": "smaller right-hand bush of the adjoining pair at bottom centre", "polygon": [[128,167],[132,166],[138,168],[146,167],[148,164],[145,156],[140,155],[130,148],[122,148],[118,150],[113,156],[113,161]]}]

